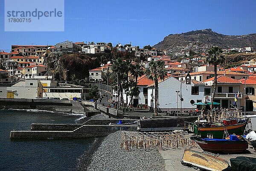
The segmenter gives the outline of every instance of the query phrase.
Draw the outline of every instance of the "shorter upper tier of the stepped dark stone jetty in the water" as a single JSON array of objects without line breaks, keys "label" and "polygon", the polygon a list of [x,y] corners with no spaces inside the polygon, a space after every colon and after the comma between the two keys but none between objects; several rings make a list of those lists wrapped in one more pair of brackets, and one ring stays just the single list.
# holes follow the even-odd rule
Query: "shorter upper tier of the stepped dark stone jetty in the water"
[{"label": "shorter upper tier of the stepped dark stone jetty in the water", "polygon": [[73,131],[82,124],[31,124],[30,130],[69,130]]}]

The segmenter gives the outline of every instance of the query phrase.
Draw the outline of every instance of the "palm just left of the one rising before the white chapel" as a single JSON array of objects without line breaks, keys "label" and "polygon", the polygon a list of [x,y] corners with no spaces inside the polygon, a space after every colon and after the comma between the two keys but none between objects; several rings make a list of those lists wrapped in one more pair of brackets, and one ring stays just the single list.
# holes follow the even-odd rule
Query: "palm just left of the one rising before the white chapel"
[{"label": "palm just left of the one rising before the white chapel", "polygon": [[[142,75],[143,75],[143,70],[141,69],[141,67],[140,67],[140,64],[136,64],[136,65],[131,65],[131,75],[133,75],[134,76],[134,78],[135,78],[135,81],[134,81],[134,83],[132,84],[132,82],[130,82],[130,87],[131,87],[131,89],[133,88],[133,90],[134,91],[140,91],[139,90],[139,87],[137,87],[137,81],[138,81],[138,77],[141,77]],[[129,93],[130,94],[130,93]],[[136,94],[137,93],[131,93],[130,95],[131,95],[131,100],[130,100],[130,102],[129,102],[129,105],[128,106],[130,106],[130,104],[131,104],[131,107],[132,107],[132,102],[133,102],[133,97],[134,96],[136,96]],[[140,94],[140,93],[139,93]],[[137,96],[139,96],[139,94],[137,95]]]}]

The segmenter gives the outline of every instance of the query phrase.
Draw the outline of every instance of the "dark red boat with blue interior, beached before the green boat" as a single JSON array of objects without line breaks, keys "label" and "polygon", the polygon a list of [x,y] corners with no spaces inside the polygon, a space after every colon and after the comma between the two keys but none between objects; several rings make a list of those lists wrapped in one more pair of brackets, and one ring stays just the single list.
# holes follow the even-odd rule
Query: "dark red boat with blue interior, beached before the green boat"
[{"label": "dark red boat with blue interior, beached before the green boat", "polygon": [[196,136],[192,136],[191,139],[194,139],[202,150],[208,152],[239,153],[248,148],[248,143],[238,139],[236,135],[230,135],[230,139],[202,139]]}]

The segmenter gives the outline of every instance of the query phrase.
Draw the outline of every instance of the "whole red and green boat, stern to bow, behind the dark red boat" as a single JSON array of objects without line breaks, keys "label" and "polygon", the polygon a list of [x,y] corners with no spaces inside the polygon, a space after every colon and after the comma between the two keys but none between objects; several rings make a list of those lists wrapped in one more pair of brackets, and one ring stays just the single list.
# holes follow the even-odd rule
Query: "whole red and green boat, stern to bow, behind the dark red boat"
[{"label": "whole red and green boat, stern to bow, behind the dark red boat", "polygon": [[188,127],[190,131],[192,131],[195,135],[200,136],[201,138],[213,138],[213,139],[223,139],[225,130],[228,134],[236,134],[242,135],[244,133],[244,129],[247,125],[247,120],[244,122],[237,123],[234,125],[216,125],[216,124],[209,124],[205,126],[196,125],[195,123],[189,123],[190,126]]}]

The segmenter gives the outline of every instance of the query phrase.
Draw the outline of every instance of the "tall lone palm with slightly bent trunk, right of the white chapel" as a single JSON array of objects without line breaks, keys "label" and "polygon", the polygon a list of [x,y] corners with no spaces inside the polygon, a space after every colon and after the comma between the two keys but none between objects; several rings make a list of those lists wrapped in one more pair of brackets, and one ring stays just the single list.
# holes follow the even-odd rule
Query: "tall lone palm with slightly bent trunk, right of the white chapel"
[{"label": "tall lone palm with slightly bent trunk, right of the white chapel", "polygon": [[[222,64],[225,61],[225,57],[222,53],[222,49],[218,46],[214,46],[208,51],[208,56],[206,58],[206,61],[209,64],[212,64],[214,66],[214,89],[213,89],[213,94],[212,94],[212,104],[213,104],[213,99],[215,97],[215,92],[217,88],[217,65]],[[211,104],[211,115],[212,115],[212,109],[213,105]]]}]

